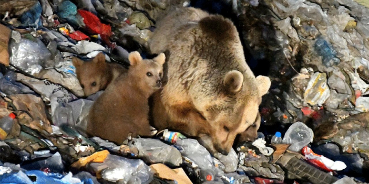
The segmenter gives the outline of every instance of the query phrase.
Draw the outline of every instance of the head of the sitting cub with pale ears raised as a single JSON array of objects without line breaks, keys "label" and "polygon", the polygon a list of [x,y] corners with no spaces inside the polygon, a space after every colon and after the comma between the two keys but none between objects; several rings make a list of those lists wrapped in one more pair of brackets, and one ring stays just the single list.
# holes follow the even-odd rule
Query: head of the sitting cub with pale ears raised
[{"label": "head of the sitting cub with pale ears raised", "polygon": [[128,75],[136,82],[145,95],[150,96],[162,86],[163,64],[165,62],[164,53],[159,54],[154,59],[142,59],[137,52],[128,55],[130,69]]}]

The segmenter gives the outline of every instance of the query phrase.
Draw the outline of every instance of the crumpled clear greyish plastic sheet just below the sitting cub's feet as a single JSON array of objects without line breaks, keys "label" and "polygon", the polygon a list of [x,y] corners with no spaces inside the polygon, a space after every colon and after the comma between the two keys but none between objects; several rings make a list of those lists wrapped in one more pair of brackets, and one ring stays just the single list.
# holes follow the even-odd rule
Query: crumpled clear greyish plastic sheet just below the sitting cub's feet
[{"label": "crumpled clear greyish plastic sheet just below the sitting cub's feet", "polygon": [[173,146],[167,145],[158,139],[133,138],[128,146],[138,149],[146,163],[164,163],[179,166],[182,163],[181,153]]}]

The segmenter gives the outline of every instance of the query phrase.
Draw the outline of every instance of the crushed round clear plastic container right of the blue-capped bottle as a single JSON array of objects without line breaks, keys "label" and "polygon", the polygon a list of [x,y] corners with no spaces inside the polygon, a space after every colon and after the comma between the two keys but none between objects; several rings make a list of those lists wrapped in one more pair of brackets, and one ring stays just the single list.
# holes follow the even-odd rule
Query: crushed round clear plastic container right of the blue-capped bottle
[{"label": "crushed round clear plastic container right of the blue-capped bottle", "polygon": [[313,138],[313,130],[311,130],[301,121],[298,121],[288,128],[284,138],[282,139],[282,142],[291,144],[291,146],[288,148],[290,151],[299,152],[304,146],[308,145],[310,142],[313,142]]}]

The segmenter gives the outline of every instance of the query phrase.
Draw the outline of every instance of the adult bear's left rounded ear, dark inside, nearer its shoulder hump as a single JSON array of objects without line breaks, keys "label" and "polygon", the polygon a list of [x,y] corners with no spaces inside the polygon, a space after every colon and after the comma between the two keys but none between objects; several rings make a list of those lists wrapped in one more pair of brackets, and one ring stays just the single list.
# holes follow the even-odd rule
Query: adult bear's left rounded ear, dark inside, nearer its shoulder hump
[{"label": "adult bear's left rounded ear, dark inside, nearer its shoulder hump", "polygon": [[240,71],[232,70],[225,74],[223,85],[228,92],[237,93],[241,91],[243,82],[244,75]]}]

